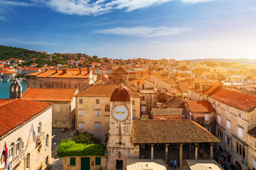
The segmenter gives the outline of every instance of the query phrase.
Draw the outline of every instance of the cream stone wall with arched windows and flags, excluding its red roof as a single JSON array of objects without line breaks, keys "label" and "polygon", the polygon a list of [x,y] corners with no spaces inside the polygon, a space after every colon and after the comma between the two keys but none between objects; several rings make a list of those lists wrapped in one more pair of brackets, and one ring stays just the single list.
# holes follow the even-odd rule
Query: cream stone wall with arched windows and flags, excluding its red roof
[{"label": "cream stone wall with arched windows and flags, excluding its red roof", "polygon": [[[52,145],[52,108],[38,113],[36,116],[27,120],[23,124],[0,137],[0,149],[4,149],[6,143],[9,149],[10,169],[28,169],[26,168],[26,159],[28,159],[29,169],[48,169],[51,162]],[[41,130],[38,133],[38,125],[41,124]],[[38,141],[33,142],[31,126],[36,132]],[[13,146],[13,155],[11,156],[11,146]],[[18,149],[19,147],[19,149]],[[0,169],[4,166],[0,162]]]}]

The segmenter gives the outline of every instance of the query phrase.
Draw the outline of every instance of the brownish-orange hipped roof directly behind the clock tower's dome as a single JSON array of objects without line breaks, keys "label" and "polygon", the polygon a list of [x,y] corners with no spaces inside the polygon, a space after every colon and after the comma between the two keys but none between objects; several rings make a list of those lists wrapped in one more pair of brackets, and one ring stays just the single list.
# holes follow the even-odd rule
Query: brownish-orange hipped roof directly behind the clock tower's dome
[{"label": "brownish-orange hipped roof directly behind the clock tower's dome", "polygon": [[[113,85],[113,84],[95,84],[92,86],[89,86],[87,89],[81,91],[76,96],[106,96],[110,97],[114,91],[114,89],[117,89],[119,85]],[[129,91],[132,93],[133,98],[139,98],[140,95],[137,93],[135,89],[133,89],[131,86],[126,85]]]}]

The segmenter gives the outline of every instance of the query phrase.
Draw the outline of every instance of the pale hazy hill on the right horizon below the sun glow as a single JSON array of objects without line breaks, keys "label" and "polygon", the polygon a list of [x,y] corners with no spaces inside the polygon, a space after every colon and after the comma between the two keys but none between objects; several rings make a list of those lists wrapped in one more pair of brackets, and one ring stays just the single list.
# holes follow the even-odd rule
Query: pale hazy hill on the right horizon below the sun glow
[{"label": "pale hazy hill on the right horizon below the sun glow", "polygon": [[188,62],[230,62],[230,63],[238,63],[238,64],[256,64],[256,60],[250,59],[195,59],[195,60],[183,60]]}]

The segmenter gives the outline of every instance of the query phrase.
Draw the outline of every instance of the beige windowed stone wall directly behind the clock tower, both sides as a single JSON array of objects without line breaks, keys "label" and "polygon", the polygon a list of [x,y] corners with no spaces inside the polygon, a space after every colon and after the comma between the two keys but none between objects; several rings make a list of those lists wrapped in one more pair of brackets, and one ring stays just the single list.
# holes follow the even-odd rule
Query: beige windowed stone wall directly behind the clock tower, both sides
[{"label": "beige windowed stone wall directly behind the clock tower, both sides", "polygon": [[[133,117],[137,119],[140,118],[140,98],[133,98],[133,101]],[[90,132],[104,142],[110,128],[110,96],[77,96],[77,103],[76,129]]]}]

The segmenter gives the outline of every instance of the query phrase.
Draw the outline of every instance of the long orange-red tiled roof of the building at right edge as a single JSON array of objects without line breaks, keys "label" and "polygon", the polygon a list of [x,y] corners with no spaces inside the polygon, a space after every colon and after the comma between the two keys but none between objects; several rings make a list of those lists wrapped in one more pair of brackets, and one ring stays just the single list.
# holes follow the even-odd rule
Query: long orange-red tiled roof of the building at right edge
[{"label": "long orange-red tiled roof of the building at right edge", "polygon": [[209,96],[242,111],[251,111],[256,107],[256,96],[233,89],[220,88]]}]

